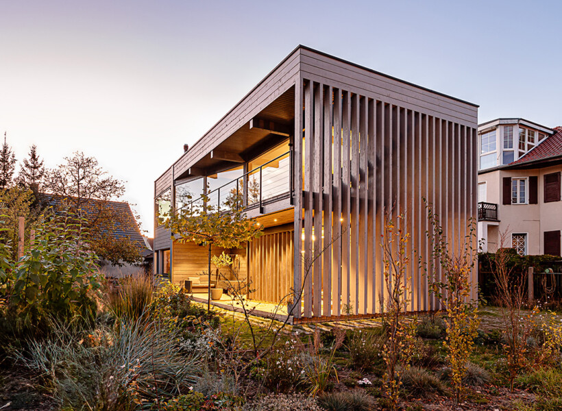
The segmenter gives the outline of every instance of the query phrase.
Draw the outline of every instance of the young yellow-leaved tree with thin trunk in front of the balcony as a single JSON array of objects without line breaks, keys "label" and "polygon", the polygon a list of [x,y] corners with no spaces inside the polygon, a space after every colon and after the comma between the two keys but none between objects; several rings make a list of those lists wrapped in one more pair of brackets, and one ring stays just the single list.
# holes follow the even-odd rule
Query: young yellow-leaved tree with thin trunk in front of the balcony
[{"label": "young yellow-leaved tree with thin trunk in front of the balcony", "polygon": [[170,229],[179,242],[194,242],[208,247],[208,304],[210,310],[210,283],[212,247],[224,249],[238,248],[241,244],[262,235],[262,226],[255,219],[247,219],[239,207],[239,196],[233,195],[221,210],[210,205],[209,197],[201,195],[204,212],[193,203],[180,210],[178,214],[169,212],[159,216],[160,222]]}]

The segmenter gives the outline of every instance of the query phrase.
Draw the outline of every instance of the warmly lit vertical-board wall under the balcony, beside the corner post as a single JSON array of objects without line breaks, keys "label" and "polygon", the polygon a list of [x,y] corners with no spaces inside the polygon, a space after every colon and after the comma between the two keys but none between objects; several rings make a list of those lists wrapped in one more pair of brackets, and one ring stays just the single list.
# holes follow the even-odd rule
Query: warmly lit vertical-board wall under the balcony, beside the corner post
[{"label": "warmly lit vertical-board wall under the balcony, beside the corner post", "polygon": [[286,303],[293,286],[293,229],[275,227],[248,247],[249,298]]}]

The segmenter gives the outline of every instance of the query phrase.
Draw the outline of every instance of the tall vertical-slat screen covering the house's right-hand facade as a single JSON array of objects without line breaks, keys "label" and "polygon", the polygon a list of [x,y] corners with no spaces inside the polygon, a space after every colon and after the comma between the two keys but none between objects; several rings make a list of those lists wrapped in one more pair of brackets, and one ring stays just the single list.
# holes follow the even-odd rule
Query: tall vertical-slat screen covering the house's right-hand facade
[{"label": "tall vertical-slat screen covering the house's right-hand facade", "polygon": [[[304,158],[294,177],[297,192],[303,184],[302,197],[295,198],[294,287],[297,293],[304,288],[296,316],[384,311],[380,236],[386,212],[394,221],[405,214],[411,234],[408,310],[439,308],[417,264],[430,258],[423,199],[459,250],[469,218],[476,217],[476,116],[457,123],[436,116],[435,103],[436,110],[415,110],[308,78],[295,95],[295,128],[304,128],[304,142],[295,139],[296,164]],[[473,284],[476,297],[476,277]]]}]

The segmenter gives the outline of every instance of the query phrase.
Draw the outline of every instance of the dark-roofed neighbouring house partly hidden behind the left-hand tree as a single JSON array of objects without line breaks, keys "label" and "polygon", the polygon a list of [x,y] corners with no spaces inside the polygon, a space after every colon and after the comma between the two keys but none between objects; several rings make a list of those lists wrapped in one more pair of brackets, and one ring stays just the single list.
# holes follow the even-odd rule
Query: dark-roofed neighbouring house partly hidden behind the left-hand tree
[{"label": "dark-roofed neighbouring house partly hidden behind the left-hand tree", "polygon": [[[64,196],[41,193],[40,200],[43,206],[52,207],[54,212],[64,208]],[[152,263],[153,252],[149,248],[151,239],[140,234],[140,229],[138,229],[136,219],[128,203],[90,199],[82,205],[82,210],[85,210],[86,214],[90,216],[95,216],[104,211],[109,211],[112,215],[117,216],[112,227],[108,228],[109,236],[114,240],[127,239],[134,242],[143,257],[143,265]],[[100,272],[106,277],[124,277],[138,273],[138,269],[139,266],[134,264],[124,263],[122,266],[114,266],[103,260],[100,262]]]}]

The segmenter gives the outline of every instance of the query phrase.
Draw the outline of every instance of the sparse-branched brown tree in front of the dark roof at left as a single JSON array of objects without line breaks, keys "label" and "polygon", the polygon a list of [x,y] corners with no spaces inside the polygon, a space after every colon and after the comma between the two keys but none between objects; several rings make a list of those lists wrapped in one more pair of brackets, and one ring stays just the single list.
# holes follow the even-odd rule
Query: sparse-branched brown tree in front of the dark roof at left
[{"label": "sparse-branched brown tree in front of the dark roof at left", "polygon": [[[101,258],[114,265],[140,262],[140,249],[129,238],[114,238],[117,227],[130,227],[130,214],[110,206],[125,192],[124,182],[103,170],[94,157],[80,151],[45,175],[45,191],[59,196],[69,208],[88,221],[90,242]],[[136,223],[136,222],[135,222]]]}]

